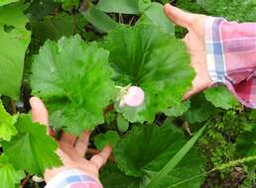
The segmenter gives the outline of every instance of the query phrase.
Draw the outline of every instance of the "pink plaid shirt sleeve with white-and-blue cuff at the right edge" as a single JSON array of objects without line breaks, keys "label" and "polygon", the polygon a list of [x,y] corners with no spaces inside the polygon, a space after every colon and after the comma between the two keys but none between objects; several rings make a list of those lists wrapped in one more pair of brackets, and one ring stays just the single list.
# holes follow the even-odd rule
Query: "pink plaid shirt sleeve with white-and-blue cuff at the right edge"
[{"label": "pink plaid shirt sleeve with white-and-blue cuff at the right edge", "polygon": [[205,24],[208,73],[245,106],[256,109],[256,23],[209,17]]}]

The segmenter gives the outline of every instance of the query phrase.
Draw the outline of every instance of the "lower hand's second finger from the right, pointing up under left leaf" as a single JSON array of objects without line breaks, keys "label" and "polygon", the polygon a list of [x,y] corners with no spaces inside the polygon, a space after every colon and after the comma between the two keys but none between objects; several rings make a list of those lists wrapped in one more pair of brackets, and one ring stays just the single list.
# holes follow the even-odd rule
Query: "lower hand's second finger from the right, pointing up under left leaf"
[{"label": "lower hand's second finger from the right, pointing up under left leaf", "polygon": [[82,157],[84,156],[87,150],[88,143],[89,143],[89,136],[90,136],[90,132],[86,131],[75,142],[75,149],[77,150],[78,154]]}]

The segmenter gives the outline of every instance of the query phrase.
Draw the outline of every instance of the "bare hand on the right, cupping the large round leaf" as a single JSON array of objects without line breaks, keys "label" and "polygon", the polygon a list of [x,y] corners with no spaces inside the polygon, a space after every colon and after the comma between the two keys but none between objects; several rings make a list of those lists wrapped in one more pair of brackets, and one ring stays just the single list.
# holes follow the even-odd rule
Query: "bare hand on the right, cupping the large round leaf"
[{"label": "bare hand on the right, cupping the large round leaf", "polygon": [[165,13],[171,21],[189,31],[184,42],[191,54],[191,64],[196,75],[192,81],[191,90],[184,96],[184,99],[188,99],[193,94],[206,89],[211,82],[207,72],[204,43],[204,25],[207,16],[188,13],[170,4],[165,5]]}]

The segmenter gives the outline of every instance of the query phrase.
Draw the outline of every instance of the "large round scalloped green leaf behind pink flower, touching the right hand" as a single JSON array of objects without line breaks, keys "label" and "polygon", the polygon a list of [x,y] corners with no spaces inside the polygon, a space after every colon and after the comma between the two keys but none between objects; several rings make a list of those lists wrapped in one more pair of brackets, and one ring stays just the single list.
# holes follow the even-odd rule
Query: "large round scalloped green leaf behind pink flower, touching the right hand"
[{"label": "large round scalloped green leaf behind pink flower, touching the right hand", "polygon": [[156,113],[179,104],[191,87],[194,73],[184,43],[154,25],[119,27],[108,34],[104,47],[117,84],[145,92],[143,105],[122,109],[131,122],[152,122]]}]

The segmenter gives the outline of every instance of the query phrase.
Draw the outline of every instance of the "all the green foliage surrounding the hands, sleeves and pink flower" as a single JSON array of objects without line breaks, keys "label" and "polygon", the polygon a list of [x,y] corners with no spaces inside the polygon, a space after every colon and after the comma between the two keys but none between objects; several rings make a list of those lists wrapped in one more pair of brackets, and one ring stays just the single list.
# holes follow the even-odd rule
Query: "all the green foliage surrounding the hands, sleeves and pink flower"
[{"label": "all the green foliage surrounding the hands, sleeves and pink flower", "polygon": [[[180,40],[187,31],[164,15],[168,2],[0,0],[0,188],[42,187],[31,177],[61,163],[57,143],[31,121],[32,95],[57,131],[94,130],[92,150],[113,146],[105,188],[256,186],[256,112],[224,87],[182,102],[194,72]],[[254,0],[171,3],[256,21]],[[130,85],[145,101],[120,107]]]}]

